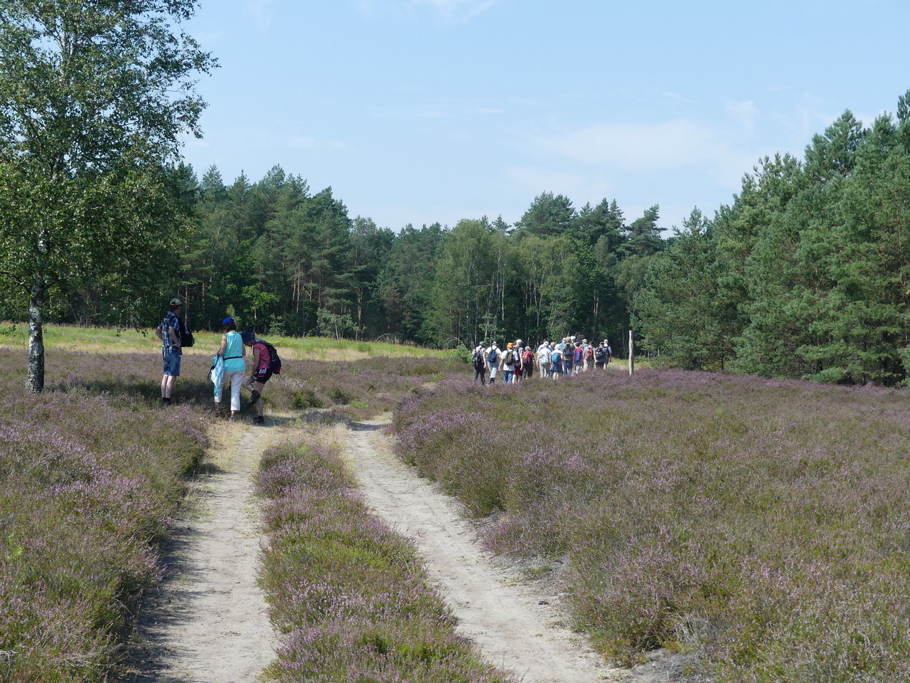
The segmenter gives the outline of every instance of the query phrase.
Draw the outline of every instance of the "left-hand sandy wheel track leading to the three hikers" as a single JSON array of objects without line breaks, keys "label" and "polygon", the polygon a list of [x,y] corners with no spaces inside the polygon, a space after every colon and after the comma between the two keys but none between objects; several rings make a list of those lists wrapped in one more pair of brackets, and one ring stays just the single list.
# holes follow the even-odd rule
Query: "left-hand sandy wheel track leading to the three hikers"
[{"label": "left-hand sandy wheel track leading to the three hikers", "polygon": [[251,475],[270,430],[246,428],[203,464],[199,512],[167,551],[167,580],[139,630],[136,683],[252,683],[277,639],[256,584],[260,534]]}]

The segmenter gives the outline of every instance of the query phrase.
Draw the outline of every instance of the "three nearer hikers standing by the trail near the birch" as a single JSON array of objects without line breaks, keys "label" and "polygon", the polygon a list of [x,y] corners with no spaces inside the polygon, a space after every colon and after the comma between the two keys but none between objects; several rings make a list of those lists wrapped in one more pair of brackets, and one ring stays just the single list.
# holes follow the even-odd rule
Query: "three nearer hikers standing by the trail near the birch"
[{"label": "three nearer hikers standing by the trail near the birch", "polygon": [[[164,375],[161,378],[161,403],[170,405],[174,383],[180,376],[180,359],[183,348],[193,345],[193,335],[180,318],[183,301],[177,297],[170,300],[170,311],[157,326],[155,334],[161,340],[161,357]],[[252,355],[251,372],[247,375],[247,349]],[[258,338],[253,332],[237,331],[237,322],[227,317],[221,321],[221,344],[212,356],[209,376],[215,383],[215,404],[218,413],[222,411],[222,389],[230,386],[230,417],[240,414],[240,388],[249,390],[248,406],[256,406],[253,423],[264,424],[262,390],[273,372],[280,372],[280,360],[275,347]]]}]

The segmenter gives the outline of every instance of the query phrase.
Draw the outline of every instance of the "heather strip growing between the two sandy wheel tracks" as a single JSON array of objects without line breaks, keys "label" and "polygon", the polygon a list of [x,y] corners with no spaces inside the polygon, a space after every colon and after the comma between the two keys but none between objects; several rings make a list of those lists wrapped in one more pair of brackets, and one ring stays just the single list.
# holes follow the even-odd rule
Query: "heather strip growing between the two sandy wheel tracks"
[{"label": "heather strip growing between the two sandy wheel tracks", "polygon": [[414,546],[369,515],[352,485],[324,446],[284,444],[263,456],[260,580],[287,634],[268,678],[511,681],[455,633]]}]

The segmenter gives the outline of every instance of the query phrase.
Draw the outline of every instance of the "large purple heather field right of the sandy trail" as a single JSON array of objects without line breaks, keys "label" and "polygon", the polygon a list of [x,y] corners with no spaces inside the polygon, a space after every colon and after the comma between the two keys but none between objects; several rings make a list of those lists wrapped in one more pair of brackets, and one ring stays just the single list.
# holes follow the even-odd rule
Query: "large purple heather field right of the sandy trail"
[{"label": "large purple heather field right of the sandy trail", "polygon": [[399,454],[490,516],[490,548],[567,556],[608,657],[717,681],[910,680],[910,395],[699,372],[446,382]]}]

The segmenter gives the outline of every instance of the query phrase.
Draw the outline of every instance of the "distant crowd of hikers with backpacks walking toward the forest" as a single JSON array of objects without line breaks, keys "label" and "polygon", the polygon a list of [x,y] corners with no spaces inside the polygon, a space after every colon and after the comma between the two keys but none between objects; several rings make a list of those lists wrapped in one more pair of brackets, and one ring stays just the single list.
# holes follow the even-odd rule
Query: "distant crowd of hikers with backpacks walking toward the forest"
[{"label": "distant crowd of hikers with backpacks walking toward the forest", "polygon": [[563,337],[561,342],[544,340],[536,351],[520,339],[509,342],[504,349],[496,342],[487,347],[478,344],[471,355],[474,382],[480,380],[481,384],[486,384],[487,372],[490,372],[490,384],[496,383],[500,372],[502,382],[509,384],[531,378],[535,371],[541,378],[557,380],[563,375],[587,372],[590,368],[606,369],[613,356],[610,342],[603,340],[595,345],[586,339],[576,343],[576,339],[571,336]]}]

